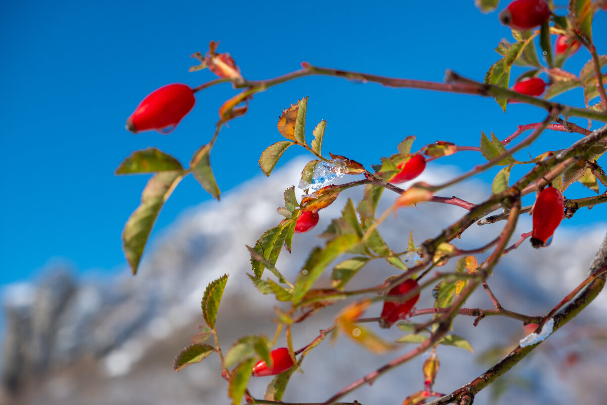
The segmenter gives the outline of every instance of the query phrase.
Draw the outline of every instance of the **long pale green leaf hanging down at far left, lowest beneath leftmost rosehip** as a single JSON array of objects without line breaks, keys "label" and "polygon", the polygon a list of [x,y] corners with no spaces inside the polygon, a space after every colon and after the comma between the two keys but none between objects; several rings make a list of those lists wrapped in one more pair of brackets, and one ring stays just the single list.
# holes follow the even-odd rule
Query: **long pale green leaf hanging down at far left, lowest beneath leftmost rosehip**
[{"label": "long pale green leaf hanging down at far left, lowest beneath leftmost rosehip", "polygon": [[124,225],[123,250],[133,274],[137,274],[143,248],[160,209],[182,177],[183,171],[158,172],[152,176],[141,193],[141,204]]}]

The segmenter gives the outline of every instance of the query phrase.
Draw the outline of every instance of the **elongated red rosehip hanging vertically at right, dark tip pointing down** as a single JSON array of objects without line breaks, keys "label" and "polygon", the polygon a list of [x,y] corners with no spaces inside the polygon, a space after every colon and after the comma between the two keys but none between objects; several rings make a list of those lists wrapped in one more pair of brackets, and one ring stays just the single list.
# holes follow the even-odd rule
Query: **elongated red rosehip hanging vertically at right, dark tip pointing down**
[{"label": "elongated red rosehip hanging vertically at right, dark tip pointing down", "polygon": [[544,188],[535,200],[533,208],[533,231],[531,245],[540,248],[546,245],[565,213],[563,194],[552,186]]}]

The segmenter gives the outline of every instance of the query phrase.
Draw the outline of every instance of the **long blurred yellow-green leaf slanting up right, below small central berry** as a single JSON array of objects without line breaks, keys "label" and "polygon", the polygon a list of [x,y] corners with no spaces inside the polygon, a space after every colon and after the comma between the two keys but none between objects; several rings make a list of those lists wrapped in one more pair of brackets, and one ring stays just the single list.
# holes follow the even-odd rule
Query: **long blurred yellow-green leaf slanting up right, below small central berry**
[{"label": "long blurred yellow-green leaf slanting up right, below small central berry", "polygon": [[344,253],[354,243],[359,241],[355,235],[343,235],[327,243],[324,249],[316,248],[308,257],[308,260],[297,277],[295,290],[293,291],[293,305],[299,304],[305,293],[310,290],[314,281],[325,268],[333,262],[339,255]]}]

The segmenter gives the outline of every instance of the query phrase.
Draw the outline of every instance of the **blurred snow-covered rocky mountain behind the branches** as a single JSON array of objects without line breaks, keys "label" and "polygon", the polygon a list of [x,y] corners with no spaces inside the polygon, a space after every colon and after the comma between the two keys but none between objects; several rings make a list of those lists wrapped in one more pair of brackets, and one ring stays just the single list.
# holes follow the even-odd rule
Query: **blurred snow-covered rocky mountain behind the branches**
[{"label": "blurred snow-covered rocky mountain behind the branches", "polygon": [[[216,356],[179,373],[172,371],[172,360],[189,344],[197,332],[196,326],[203,323],[200,299],[206,285],[224,273],[229,274],[229,279],[217,323],[222,347],[229,347],[245,334],[273,335],[275,325],[270,318],[277,302],[271,296],[259,294],[245,276],[250,272],[245,245],[253,245],[263,231],[280,222],[282,217],[276,208],[283,205],[282,191],[297,185],[304,164],[295,160],[270,178],[259,176],[226,192],[222,202],[204,203],[183,213],[161,237],[151,241],[135,277],[126,268],[121,276],[104,281],[75,279],[69,271],[58,270],[49,271],[35,284],[7,288],[3,296],[6,325],[0,401],[45,405],[228,403],[227,387],[219,375]],[[455,170],[444,166],[427,171],[418,180],[439,182],[452,177]],[[344,179],[351,181],[349,177],[354,176]],[[441,195],[452,194],[480,202],[489,194],[489,187],[469,182],[459,186],[457,192],[447,189]],[[362,196],[362,189],[343,192],[333,205],[320,211],[319,225],[313,231],[296,235],[293,252],[281,254],[277,268],[285,276],[294,279],[310,248],[324,243],[316,235],[331,217],[339,215],[348,196],[356,201]],[[394,198],[386,192],[378,211],[387,208]],[[456,206],[420,204],[418,209],[401,209],[398,217],[386,221],[379,229],[395,251],[404,251],[410,230],[419,243],[436,236],[463,213]],[[531,229],[529,217],[523,218],[519,228],[518,234]],[[498,224],[473,225],[462,240],[453,243],[460,248],[479,247],[499,231]],[[531,315],[544,314],[586,277],[589,262],[606,232],[604,222],[583,230],[564,223],[551,247],[533,250],[529,243],[524,243],[505,256],[489,284],[504,307]],[[381,282],[396,273],[398,270],[385,263],[373,262],[355,277],[353,287],[364,282]],[[320,279],[319,284],[327,282],[328,276]],[[574,322],[600,324],[597,330],[605,333],[606,296],[602,293]],[[424,291],[417,306],[431,305],[431,293]],[[319,329],[330,326],[342,306],[340,303],[326,308],[296,325],[293,330],[296,347],[307,344]],[[479,291],[466,306],[490,308],[491,302]],[[373,316],[379,310],[380,306],[375,305],[367,315]],[[476,328],[471,327],[472,321],[460,316],[454,327],[477,353],[496,343],[515,345],[523,337],[517,321],[490,317]],[[583,328],[580,326],[578,330]],[[379,333],[396,338],[402,332],[395,329]],[[574,330],[565,327],[549,341],[563,341]],[[559,350],[557,343],[546,345],[547,349],[538,350],[531,360],[525,360],[509,373],[518,376],[514,383],[520,388],[509,390],[500,403],[568,403],[580,395],[599,403],[599,398],[607,395],[606,374],[601,369],[605,351],[597,354],[585,350],[584,344],[589,344],[585,336],[574,342],[577,343],[568,347],[573,347],[583,366],[569,361],[569,370],[560,370],[558,367],[564,364],[561,357],[568,356],[570,351]],[[404,350],[407,348],[399,353]],[[475,362],[476,355],[461,349],[440,347],[438,354],[441,370],[435,389],[439,392],[450,392],[486,368]],[[393,356],[394,353],[372,355],[343,337],[335,347],[323,342],[306,358],[304,373],[293,376],[284,400],[326,400]],[[415,359],[382,376],[373,387],[362,387],[346,400],[356,399],[365,405],[402,402],[409,393],[422,389],[422,361]],[[575,372],[571,372],[572,367]],[[249,386],[255,395],[262,396],[268,382],[268,378],[258,378]],[[532,391],[524,389],[527,383],[534,387]],[[488,398],[489,393],[483,392],[476,401],[487,403]]]}]

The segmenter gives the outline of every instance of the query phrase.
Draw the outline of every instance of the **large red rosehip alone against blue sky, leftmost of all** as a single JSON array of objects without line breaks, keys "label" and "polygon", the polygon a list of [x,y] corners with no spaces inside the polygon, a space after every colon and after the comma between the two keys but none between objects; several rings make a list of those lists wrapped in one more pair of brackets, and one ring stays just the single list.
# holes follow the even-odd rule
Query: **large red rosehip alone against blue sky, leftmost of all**
[{"label": "large red rosehip alone against blue sky, leftmost of all", "polygon": [[126,120],[126,129],[134,134],[152,129],[168,134],[191,111],[195,102],[194,92],[186,84],[167,84],[141,101]]}]

